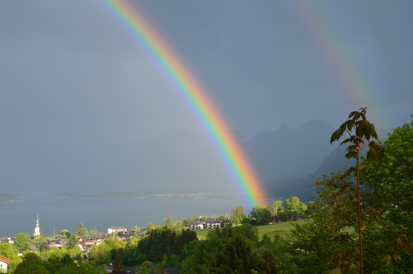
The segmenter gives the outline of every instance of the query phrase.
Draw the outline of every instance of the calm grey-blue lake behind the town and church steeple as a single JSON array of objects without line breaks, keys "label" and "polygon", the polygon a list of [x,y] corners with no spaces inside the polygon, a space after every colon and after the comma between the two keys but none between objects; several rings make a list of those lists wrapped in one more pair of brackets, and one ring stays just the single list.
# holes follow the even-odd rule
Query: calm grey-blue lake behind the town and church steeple
[{"label": "calm grey-blue lake behind the town and church steeple", "polygon": [[[33,193],[19,197],[18,203],[0,204],[0,237],[32,234],[39,215],[40,231],[52,235],[67,229],[75,232],[82,222],[88,230],[106,232],[112,226],[146,227],[148,222],[162,224],[169,212],[174,220],[228,213],[242,205],[245,214],[251,210],[243,199],[119,199],[119,198],[57,198],[50,193]],[[267,203],[271,204],[272,199]]]}]

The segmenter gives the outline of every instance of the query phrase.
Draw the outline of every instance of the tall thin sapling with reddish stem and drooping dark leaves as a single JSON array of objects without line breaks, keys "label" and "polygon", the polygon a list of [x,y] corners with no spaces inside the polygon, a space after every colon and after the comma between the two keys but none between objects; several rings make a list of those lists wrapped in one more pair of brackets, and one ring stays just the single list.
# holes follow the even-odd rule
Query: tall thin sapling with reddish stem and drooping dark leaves
[{"label": "tall thin sapling with reddish stem and drooping dark leaves", "polygon": [[[344,122],[332,135],[330,143],[338,141],[344,133],[349,134],[349,138],[341,142],[341,144],[350,143],[351,145],[347,147],[348,153],[346,154],[347,159],[355,158],[357,160],[357,165],[350,167],[350,169],[343,175],[343,177],[352,177],[356,181],[356,188],[350,184],[343,185],[342,191],[349,191],[353,196],[353,199],[357,203],[357,215],[358,215],[358,225],[359,225],[359,250],[360,250],[360,268],[361,273],[364,274],[364,262],[363,262],[363,239],[362,239],[362,211],[360,199],[360,170],[364,168],[368,161],[377,161],[379,155],[384,156],[384,151],[386,150],[380,144],[376,144],[375,141],[370,141],[374,138],[378,140],[377,132],[375,130],[374,124],[371,124],[366,119],[366,108],[360,109],[360,111],[354,111],[350,113],[349,118]],[[355,135],[352,135],[352,130],[355,130]],[[367,140],[367,143],[366,143]],[[360,153],[361,151],[369,146],[370,149],[366,154],[366,160],[360,165]],[[380,220],[383,210],[369,209],[366,212],[370,215],[367,220],[372,220],[372,217],[376,220]],[[367,225],[367,222],[364,226]],[[350,264],[353,265],[353,264]]]}]

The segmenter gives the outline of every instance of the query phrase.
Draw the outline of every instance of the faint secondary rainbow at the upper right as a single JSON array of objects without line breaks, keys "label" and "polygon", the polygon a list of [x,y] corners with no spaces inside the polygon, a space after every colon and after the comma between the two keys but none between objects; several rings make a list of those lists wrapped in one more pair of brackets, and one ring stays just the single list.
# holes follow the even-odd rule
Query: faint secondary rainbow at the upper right
[{"label": "faint secondary rainbow at the upper right", "polygon": [[313,34],[314,42],[345,90],[348,103],[356,109],[372,106],[372,109],[369,108],[369,116],[373,115],[374,120],[381,121],[382,127],[391,127],[388,115],[379,109],[381,102],[375,93],[376,88],[356,54],[346,46],[346,39],[340,35],[339,28],[335,26],[325,5],[319,1],[292,1],[289,4],[301,15],[303,25]]}]

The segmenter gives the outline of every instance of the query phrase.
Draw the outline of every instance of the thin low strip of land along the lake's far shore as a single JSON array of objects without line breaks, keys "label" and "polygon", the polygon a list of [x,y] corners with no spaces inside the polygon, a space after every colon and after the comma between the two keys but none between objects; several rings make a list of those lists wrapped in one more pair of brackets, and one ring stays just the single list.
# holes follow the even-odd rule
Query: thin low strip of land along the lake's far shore
[{"label": "thin low strip of land along the lake's far shore", "polygon": [[68,198],[129,198],[129,199],[146,199],[146,198],[198,198],[198,199],[228,199],[239,198],[236,192],[206,193],[197,191],[183,190],[137,190],[137,191],[101,191],[101,192],[59,192],[51,197],[68,197]]}]

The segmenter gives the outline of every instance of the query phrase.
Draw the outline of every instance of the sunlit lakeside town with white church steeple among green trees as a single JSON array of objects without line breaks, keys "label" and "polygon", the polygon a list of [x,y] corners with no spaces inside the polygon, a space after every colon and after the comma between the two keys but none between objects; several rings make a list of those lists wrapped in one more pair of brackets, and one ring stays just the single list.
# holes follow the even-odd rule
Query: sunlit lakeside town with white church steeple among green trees
[{"label": "sunlit lakeside town with white church steeple among green trees", "polygon": [[[298,213],[295,210],[284,212],[284,206],[291,209],[294,204],[300,205],[300,207],[295,207],[294,209],[302,213]],[[276,213],[275,215],[274,212]],[[71,233],[66,229],[55,233],[53,229],[53,235],[49,236],[44,236],[41,232],[39,216],[37,215],[31,236],[27,233],[19,233],[16,237],[0,237],[0,262],[2,265],[0,268],[3,269],[3,271],[7,271],[8,265],[13,266],[14,268],[16,267],[16,263],[13,264],[10,259],[1,256],[3,254],[2,245],[4,246],[6,244],[7,246],[4,246],[3,249],[9,247],[9,251],[15,252],[18,257],[21,257],[24,254],[33,253],[37,254],[41,261],[48,262],[48,260],[51,259],[51,254],[54,254],[53,252],[55,252],[56,254],[53,256],[56,256],[57,254],[60,254],[60,256],[68,254],[78,262],[93,262],[92,265],[95,268],[105,270],[108,273],[116,272],[116,269],[114,268],[118,254],[109,254],[109,252],[106,257],[102,258],[104,250],[100,250],[101,247],[111,247],[110,249],[112,250],[122,248],[122,246],[126,247],[125,249],[130,246],[136,248],[136,243],[142,243],[146,240],[146,237],[150,238],[151,235],[162,230],[167,230],[169,231],[168,233],[175,233],[175,237],[186,234],[186,241],[189,243],[191,240],[204,240],[204,238],[198,238],[196,231],[214,231],[217,229],[226,231],[226,229],[232,229],[233,227],[235,229],[237,226],[243,227],[246,225],[250,226],[248,229],[252,229],[255,225],[279,224],[283,221],[303,220],[305,219],[304,215],[311,217],[308,213],[309,211],[307,211],[307,207],[299,202],[298,198],[293,197],[284,203],[276,201],[271,207],[257,206],[250,212],[250,214],[248,214],[248,216],[245,216],[242,206],[231,209],[231,218],[228,214],[220,216],[214,215],[213,217],[198,217],[195,214],[188,219],[183,218],[182,220],[174,222],[172,215],[169,213],[162,221],[162,227],[149,222],[148,227],[142,229],[139,227],[127,229],[119,226],[107,228],[106,232],[102,233],[96,230],[87,230],[83,223],[80,222],[76,226],[75,233]],[[123,251],[123,253],[125,252]],[[166,255],[163,255],[163,259],[166,261],[161,263],[159,267],[153,267],[149,273],[180,273],[178,267],[173,267],[179,266],[179,264],[173,262],[173,256],[172,260],[169,259],[169,262],[164,256]],[[128,259],[129,258],[123,254],[120,263],[123,265],[123,262],[127,263]],[[153,266],[153,262],[145,260],[141,263],[140,267],[123,266],[123,271],[130,274],[145,273],[145,268],[148,269],[151,268],[151,266]]]}]

